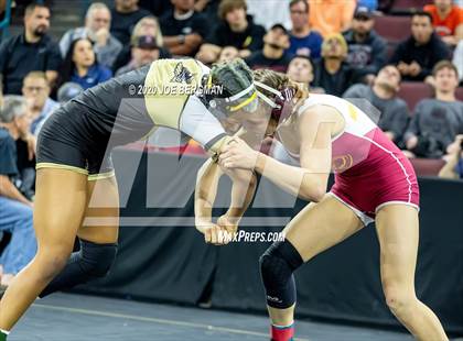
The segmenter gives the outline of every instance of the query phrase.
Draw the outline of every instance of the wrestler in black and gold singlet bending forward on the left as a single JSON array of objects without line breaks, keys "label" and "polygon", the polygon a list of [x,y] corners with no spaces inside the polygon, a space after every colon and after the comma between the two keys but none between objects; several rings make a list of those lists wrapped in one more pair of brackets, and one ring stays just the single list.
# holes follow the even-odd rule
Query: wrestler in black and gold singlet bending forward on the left
[{"label": "wrestler in black and gold singlet bending forward on the left", "polygon": [[[80,43],[85,40],[77,42],[74,51]],[[90,46],[86,51],[90,52]],[[82,69],[76,66],[76,72]],[[173,88],[177,90],[162,91]],[[212,69],[194,59],[157,61],[87,89],[57,109],[45,121],[37,141],[37,253],[0,300],[0,341],[7,340],[9,330],[37,296],[105,277],[112,266],[119,231],[119,195],[110,157],[114,147],[168,127],[218,155],[232,138],[214,113],[233,116],[256,109],[252,73],[243,59]],[[252,174],[228,174],[234,183],[230,216],[237,217],[240,205],[250,202],[249,197],[244,204],[236,200],[246,196]],[[89,215],[97,219],[84,223]],[[220,218],[227,226],[227,217]],[[227,229],[200,219],[196,222],[209,242]],[[72,253],[76,235],[80,250]]]}]

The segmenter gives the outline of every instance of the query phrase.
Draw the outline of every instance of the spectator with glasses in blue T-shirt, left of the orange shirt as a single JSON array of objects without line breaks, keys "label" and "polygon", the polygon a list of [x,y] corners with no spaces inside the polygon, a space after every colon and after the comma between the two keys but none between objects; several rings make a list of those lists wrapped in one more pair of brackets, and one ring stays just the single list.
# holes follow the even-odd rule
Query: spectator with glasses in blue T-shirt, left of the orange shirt
[{"label": "spectator with glasses in blue T-shirt, left of the orange shirt", "polygon": [[290,13],[292,30],[290,34],[290,48],[293,55],[304,55],[312,59],[321,56],[323,37],[311,30],[309,24],[310,7],[308,0],[291,0]]}]

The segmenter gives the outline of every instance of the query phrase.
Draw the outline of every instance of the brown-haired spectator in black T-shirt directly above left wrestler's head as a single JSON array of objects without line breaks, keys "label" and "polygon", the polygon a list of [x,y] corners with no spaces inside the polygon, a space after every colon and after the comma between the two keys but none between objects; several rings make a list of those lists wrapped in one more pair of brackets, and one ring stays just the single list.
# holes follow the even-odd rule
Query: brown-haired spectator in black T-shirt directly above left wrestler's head
[{"label": "brown-haired spectator in black T-shirt directly above left wrestler's head", "polygon": [[238,48],[241,58],[247,58],[252,52],[261,50],[266,30],[255,24],[252,16],[246,15],[246,11],[245,0],[223,0],[218,8],[222,22],[213,29],[196,58],[205,64],[214,63],[224,46]]}]

